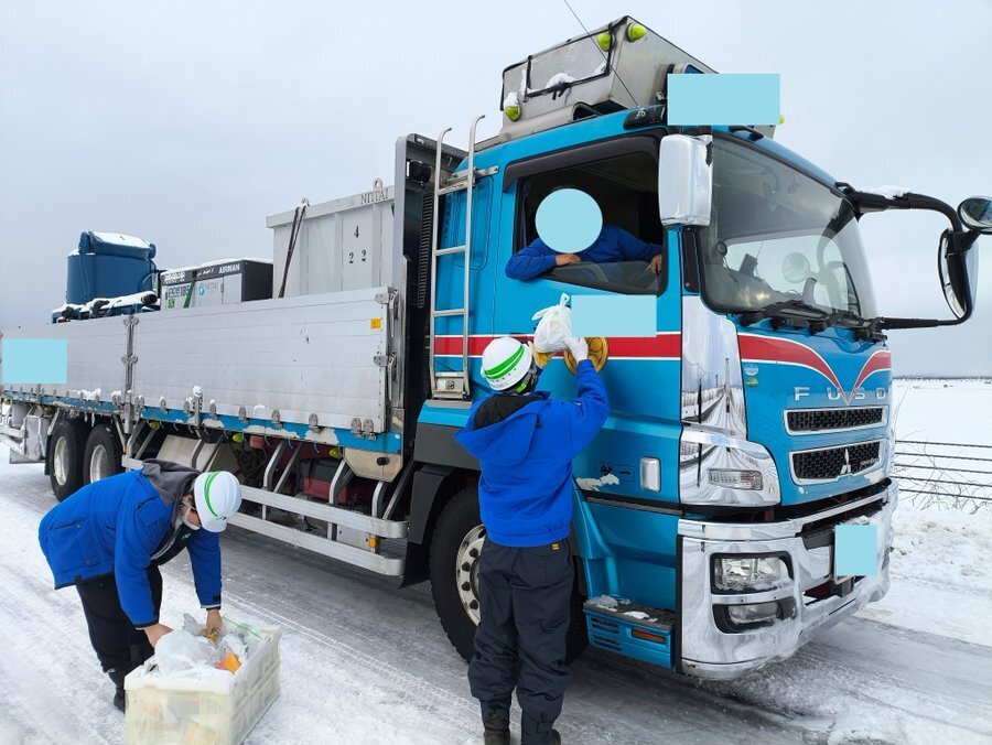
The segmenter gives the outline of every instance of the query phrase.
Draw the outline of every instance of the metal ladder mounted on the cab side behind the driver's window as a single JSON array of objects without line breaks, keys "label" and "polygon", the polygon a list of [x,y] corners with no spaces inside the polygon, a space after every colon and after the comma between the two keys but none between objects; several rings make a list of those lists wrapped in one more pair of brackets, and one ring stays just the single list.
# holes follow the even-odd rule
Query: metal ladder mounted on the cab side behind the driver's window
[{"label": "metal ladder mounted on the cab side behind the driver's window", "polygon": [[[478,116],[472,122],[468,130],[468,161],[466,168],[462,171],[453,173],[450,179],[442,183],[441,179],[441,154],[444,145],[444,136],[451,131],[451,127],[445,129],[438,136],[438,154],[434,163],[434,226],[431,239],[431,333],[429,365],[431,379],[431,395],[435,399],[455,399],[467,400],[468,390],[468,280],[471,276],[470,261],[472,258],[472,190],[475,181],[481,175],[487,173],[477,173],[475,171],[475,130],[478,122],[485,118],[485,115]],[[441,222],[441,197],[445,194],[465,191],[465,242],[461,246],[451,246],[450,248],[438,247],[438,224]],[[464,260],[464,278],[462,283],[462,307],[438,309],[438,259],[442,256],[451,253],[463,253]],[[434,365],[434,354],[436,345],[436,322],[441,317],[462,316],[462,369],[461,371],[439,372]]]}]

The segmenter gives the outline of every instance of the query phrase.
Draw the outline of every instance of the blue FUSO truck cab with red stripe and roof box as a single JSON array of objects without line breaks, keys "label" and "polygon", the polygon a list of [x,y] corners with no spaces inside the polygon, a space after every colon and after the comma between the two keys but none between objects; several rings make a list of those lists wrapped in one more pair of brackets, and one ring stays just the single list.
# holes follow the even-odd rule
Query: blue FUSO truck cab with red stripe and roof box
[{"label": "blue FUSO truck cab with red stripe and roof box", "polygon": [[[952,322],[970,312],[975,277],[956,258],[953,238],[967,234],[942,203],[859,193],[776,143],[773,128],[668,126],[667,76],[708,73],[629,18],[507,68],[503,131],[473,145],[452,175],[464,186],[436,207],[432,397],[417,458],[472,468],[451,435],[489,395],[481,358],[493,338],[530,338],[535,312],[562,293],[640,298],[650,333],[628,318],[630,332],[621,322],[606,335],[611,415],[573,463],[582,622],[595,647],[734,678],[888,587],[898,488],[884,330],[913,324],[878,316],[859,219],[884,208],[948,216],[941,256],[959,273],[946,287],[962,311]],[[694,204],[699,169],[708,183]],[[510,278],[511,258],[538,238],[541,201],[560,187],[656,246],[660,268],[581,261]],[[672,192],[688,195],[677,209]],[[561,357],[539,387],[574,397]],[[466,512],[445,526],[464,540],[432,577],[451,584],[455,570],[470,620],[477,523]],[[870,569],[839,571],[840,526],[865,529]],[[466,651],[465,618],[441,615]]]}]

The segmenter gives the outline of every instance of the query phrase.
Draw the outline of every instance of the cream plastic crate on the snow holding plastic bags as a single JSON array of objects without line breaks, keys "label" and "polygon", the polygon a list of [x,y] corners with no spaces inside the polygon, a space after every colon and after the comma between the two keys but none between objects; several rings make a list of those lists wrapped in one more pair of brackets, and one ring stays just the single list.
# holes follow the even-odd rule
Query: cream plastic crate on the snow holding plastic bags
[{"label": "cream plastic crate on the snow holding plastic bags", "polygon": [[152,657],[125,679],[129,745],[240,743],[279,695],[279,639],[276,627],[225,617],[261,639],[237,672],[217,679],[149,676]]}]

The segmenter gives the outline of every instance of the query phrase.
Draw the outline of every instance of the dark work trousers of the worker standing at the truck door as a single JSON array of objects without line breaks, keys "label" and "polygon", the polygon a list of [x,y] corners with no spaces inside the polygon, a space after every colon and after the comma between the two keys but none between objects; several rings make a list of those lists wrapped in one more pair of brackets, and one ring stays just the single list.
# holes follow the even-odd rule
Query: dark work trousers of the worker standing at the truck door
[{"label": "dark work trousers of the worker standing at the truck door", "polygon": [[478,562],[472,695],[482,703],[483,720],[493,714],[509,720],[516,688],[525,717],[548,732],[572,678],[565,665],[575,573],[569,541],[510,548],[486,538]]}]

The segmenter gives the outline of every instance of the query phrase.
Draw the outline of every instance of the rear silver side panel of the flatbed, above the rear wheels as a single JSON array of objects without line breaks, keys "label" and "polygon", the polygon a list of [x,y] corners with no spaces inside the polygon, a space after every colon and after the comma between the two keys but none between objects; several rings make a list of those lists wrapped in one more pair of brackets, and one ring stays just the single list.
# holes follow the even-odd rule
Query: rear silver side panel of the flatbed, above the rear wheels
[{"label": "rear silver side panel of the flatbed, above the rear wheels", "polygon": [[[4,328],[3,339],[44,338],[66,339],[68,370],[65,385],[41,385],[43,396],[109,401],[115,391],[122,391],[127,367],[128,330],[126,318],[94,318],[75,323],[60,323],[21,328]],[[0,363],[2,366],[2,363]],[[0,380],[6,380],[0,367]],[[8,392],[36,392],[37,381],[4,382]]]}]

